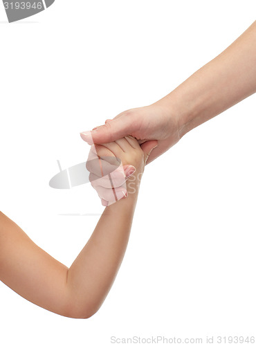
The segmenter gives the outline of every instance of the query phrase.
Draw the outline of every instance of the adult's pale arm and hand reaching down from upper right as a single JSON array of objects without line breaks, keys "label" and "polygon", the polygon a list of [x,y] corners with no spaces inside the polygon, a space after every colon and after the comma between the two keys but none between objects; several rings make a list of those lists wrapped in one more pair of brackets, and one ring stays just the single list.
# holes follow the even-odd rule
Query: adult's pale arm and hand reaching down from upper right
[{"label": "adult's pale arm and hand reaching down from upper right", "polygon": [[[128,134],[143,151],[158,140],[147,163],[175,145],[188,131],[210,120],[256,92],[256,21],[225,51],[196,71],[161,100],[147,107],[129,109],[105,125],[82,132],[87,143],[104,143]],[[93,170],[91,170],[93,173]],[[113,181],[118,188],[120,181]],[[98,181],[100,186],[100,181]],[[94,188],[98,190],[98,186]],[[114,203],[102,185],[102,203]]]}]

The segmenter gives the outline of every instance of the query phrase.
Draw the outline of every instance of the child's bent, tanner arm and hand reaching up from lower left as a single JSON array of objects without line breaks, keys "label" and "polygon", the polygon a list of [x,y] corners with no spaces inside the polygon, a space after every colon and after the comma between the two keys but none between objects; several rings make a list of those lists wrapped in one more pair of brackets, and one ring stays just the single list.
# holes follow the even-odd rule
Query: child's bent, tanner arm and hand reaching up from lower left
[{"label": "child's bent, tanner arm and hand reaching up from lower left", "polygon": [[[39,248],[0,212],[0,280],[39,307],[70,318],[93,316],[111,289],[127,248],[139,178],[148,157],[131,137],[100,145],[90,154],[95,158],[117,156],[124,165],[136,167],[136,172],[132,186],[127,181],[128,196],[105,208],[70,268]],[[98,159],[99,165],[101,161]]]}]

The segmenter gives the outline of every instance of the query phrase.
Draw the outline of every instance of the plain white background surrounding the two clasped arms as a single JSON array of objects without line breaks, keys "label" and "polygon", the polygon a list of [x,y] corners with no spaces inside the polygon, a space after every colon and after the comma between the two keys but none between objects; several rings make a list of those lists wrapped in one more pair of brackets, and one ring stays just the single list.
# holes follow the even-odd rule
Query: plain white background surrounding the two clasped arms
[{"label": "plain white background surrounding the two clasped arms", "polygon": [[[56,160],[85,161],[80,131],[162,98],[255,10],[255,0],[56,0],[8,24],[0,6],[0,210],[70,266],[103,208],[89,184],[48,186]],[[255,335],[255,126],[254,95],[147,167],[125,260],[93,318],[57,316],[0,283],[0,345]],[[75,212],[96,215],[60,216]]]}]

